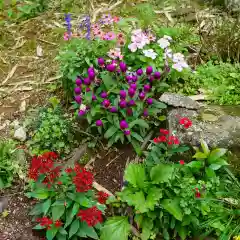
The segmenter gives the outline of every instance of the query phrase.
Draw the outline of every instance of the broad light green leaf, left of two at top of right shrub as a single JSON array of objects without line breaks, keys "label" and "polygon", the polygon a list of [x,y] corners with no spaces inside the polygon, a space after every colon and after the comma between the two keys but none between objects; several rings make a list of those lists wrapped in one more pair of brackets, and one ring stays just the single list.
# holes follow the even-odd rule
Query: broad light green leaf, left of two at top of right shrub
[{"label": "broad light green leaf, left of two at top of right shrub", "polygon": [[124,172],[124,179],[131,183],[133,187],[144,188],[146,173],[142,164],[131,163]]}]

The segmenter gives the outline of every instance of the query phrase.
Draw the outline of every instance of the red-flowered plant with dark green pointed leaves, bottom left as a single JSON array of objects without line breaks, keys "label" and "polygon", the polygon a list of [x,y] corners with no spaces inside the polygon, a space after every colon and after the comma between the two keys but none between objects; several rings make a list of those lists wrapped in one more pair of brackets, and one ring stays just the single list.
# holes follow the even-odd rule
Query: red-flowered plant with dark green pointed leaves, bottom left
[{"label": "red-flowered plant with dark green pointed leaves, bottom left", "polygon": [[95,229],[103,221],[108,195],[95,194],[91,172],[79,164],[64,169],[58,155],[47,152],[33,157],[29,178],[32,191],[27,196],[39,200],[30,212],[37,223],[34,229],[46,229],[47,240],[98,239]]}]

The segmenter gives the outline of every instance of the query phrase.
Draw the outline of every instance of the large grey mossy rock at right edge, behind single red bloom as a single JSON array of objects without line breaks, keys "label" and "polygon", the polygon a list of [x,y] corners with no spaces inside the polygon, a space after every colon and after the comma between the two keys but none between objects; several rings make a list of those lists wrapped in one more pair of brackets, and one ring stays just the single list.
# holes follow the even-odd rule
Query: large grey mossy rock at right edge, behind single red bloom
[{"label": "large grey mossy rock at right edge, behind single red bloom", "polygon": [[[197,146],[203,139],[210,147],[229,148],[240,146],[240,108],[233,113],[222,107],[207,107],[201,111],[178,108],[168,113],[171,131],[175,131],[182,143]],[[234,115],[235,114],[235,115]],[[185,129],[179,124],[179,117],[188,117],[193,125]]]}]

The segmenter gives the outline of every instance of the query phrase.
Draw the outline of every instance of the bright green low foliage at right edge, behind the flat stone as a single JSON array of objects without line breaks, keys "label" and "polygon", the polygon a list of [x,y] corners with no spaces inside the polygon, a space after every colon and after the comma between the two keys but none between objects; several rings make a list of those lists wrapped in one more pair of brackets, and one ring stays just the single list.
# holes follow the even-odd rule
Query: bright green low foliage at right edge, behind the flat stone
[{"label": "bright green low foliage at right edge, behind the flat stone", "polygon": [[199,65],[196,72],[183,76],[184,83],[172,87],[187,95],[197,94],[199,89],[204,89],[210,102],[221,105],[240,104],[240,65],[230,63],[212,62]]}]

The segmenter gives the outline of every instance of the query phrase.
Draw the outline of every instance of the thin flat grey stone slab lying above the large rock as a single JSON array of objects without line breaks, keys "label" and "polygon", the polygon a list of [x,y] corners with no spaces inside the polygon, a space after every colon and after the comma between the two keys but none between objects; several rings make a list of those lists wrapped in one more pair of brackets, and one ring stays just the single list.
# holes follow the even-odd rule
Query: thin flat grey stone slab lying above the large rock
[{"label": "thin flat grey stone slab lying above the large rock", "polygon": [[177,93],[163,93],[159,99],[161,102],[164,102],[170,106],[174,107],[183,107],[187,109],[199,109],[200,105],[198,102],[192,100],[189,97],[179,95]]}]

